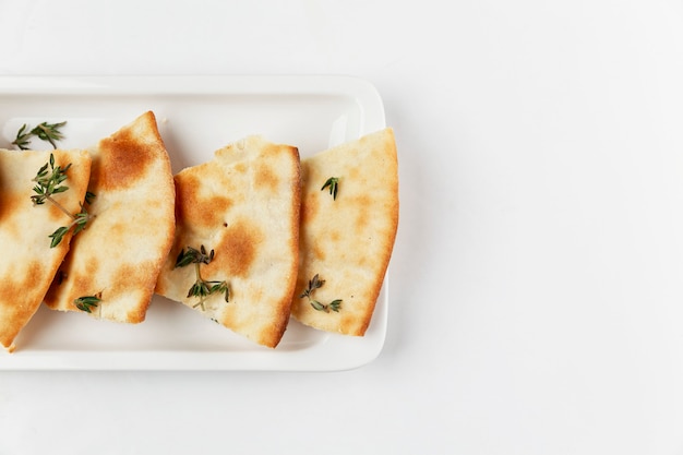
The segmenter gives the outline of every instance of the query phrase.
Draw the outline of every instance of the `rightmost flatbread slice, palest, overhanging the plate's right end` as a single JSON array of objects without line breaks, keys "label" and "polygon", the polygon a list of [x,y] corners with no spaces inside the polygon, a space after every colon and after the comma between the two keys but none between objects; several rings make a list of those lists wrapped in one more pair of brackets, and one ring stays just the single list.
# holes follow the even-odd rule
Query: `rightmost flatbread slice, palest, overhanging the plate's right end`
[{"label": "rightmost flatbread slice, palest, overhanging the plate's right end", "polygon": [[315,328],[362,336],[398,226],[393,130],[303,159],[301,170],[300,265],[291,313]]}]

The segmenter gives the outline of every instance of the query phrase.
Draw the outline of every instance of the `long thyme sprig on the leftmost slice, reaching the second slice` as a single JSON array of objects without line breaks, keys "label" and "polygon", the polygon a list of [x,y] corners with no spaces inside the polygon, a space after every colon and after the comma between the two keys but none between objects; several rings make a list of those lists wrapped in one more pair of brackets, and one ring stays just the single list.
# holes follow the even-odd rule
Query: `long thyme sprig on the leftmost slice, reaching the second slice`
[{"label": "long thyme sprig on the leftmost slice, reaching the second slice", "polygon": [[[64,191],[69,190],[69,187],[63,183],[67,181],[67,171],[70,168],[71,163],[69,163],[63,168],[59,165],[55,166],[55,155],[50,154],[50,159],[48,160],[48,163],[46,163],[38,170],[36,177],[33,178],[33,181],[36,182],[36,185],[33,188],[33,191],[36,194],[33,194],[31,196],[31,201],[33,201],[33,204],[43,205],[46,202],[50,202],[71,218],[71,223],[68,226],[59,227],[55,232],[48,236],[51,239],[50,248],[55,248],[59,243],[61,243],[67,232],[69,232],[72,228],[74,235],[85,229],[85,226],[92,218],[83,204],[81,204],[81,212],[72,214],[52,197],[55,194],[63,193]],[[85,203],[89,204],[94,197],[95,194],[89,191],[86,192]]]}]

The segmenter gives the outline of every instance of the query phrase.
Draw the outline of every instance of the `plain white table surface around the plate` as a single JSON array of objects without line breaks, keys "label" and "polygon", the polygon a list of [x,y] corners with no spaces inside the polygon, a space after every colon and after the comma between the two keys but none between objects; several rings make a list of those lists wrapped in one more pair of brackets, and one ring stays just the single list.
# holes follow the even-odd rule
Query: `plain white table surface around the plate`
[{"label": "plain white table surface around the plate", "polygon": [[0,454],[683,453],[683,3],[0,0],[0,74],[348,74],[400,164],[332,373],[2,372]]}]

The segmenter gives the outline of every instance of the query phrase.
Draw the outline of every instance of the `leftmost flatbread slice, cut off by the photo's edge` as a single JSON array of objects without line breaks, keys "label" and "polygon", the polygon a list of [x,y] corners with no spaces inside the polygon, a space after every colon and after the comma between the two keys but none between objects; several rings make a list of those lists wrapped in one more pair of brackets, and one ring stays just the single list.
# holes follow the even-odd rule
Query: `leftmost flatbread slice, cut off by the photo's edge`
[{"label": "leftmost flatbread slice, cut off by the photo's edge", "polygon": [[[37,311],[59,264],[69,251],[73,230],[50,248],[50,235],[69,226],[71,218],[57,205],[35,205],[32,181],[44,165],[65,170],[60,187],[68,190],[52,197],[71,214],[81,212],[91,173],[91,157],[85,151],[56,149],[0,151],[0,343],[14,349],[14,338]],[[51,169],[48,167],[48,172]]]}]

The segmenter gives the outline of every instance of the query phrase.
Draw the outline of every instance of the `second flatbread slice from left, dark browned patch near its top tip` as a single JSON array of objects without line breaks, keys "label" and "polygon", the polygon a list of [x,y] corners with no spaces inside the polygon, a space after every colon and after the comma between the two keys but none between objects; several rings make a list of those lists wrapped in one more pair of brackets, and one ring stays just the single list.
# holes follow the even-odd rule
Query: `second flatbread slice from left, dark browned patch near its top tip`
[{"label": "second flatbread slice from left, dark browned patch near its top tip", "polygon": [[91,154],[94,218],[74,238],[45,300],[53,310],[139,323],[175,230],[173,178],[154,113],[103,139]]}]

